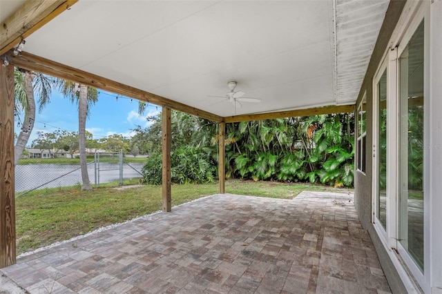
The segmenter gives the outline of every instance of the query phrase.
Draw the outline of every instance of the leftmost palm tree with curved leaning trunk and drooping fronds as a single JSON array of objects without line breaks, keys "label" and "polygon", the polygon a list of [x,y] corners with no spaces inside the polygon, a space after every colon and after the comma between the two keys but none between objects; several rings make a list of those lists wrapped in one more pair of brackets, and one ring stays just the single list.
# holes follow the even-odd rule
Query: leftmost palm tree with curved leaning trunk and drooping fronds
[{"label": "leftmost palm tree with curved leaning trunk and drooping fronds", "polygon": [[41,111],[50,101],[52,80],[39,72],[15,68],[15,115],[18,116],[19,112],[25,112],[14,148],[15,165],[19,162],[21,154],[26,144],[28,144],[30,133],[34,128],[35,91],[37,91],[39,111]]}]

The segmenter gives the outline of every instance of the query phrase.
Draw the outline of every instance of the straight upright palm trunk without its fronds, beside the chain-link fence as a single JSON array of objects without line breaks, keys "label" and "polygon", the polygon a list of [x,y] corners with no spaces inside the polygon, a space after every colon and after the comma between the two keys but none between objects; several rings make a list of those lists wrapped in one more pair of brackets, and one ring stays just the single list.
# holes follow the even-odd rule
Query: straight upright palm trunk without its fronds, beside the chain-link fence
[{"label": "straight upright palm trunk without its fronds, beside the chain-link fence", "polygon": [[81,190],[92,190],[90,186],[88,165],[86,163],[86,110],[88,107],[88,87],[80,85],[80,93],[78,99],[78,144],[80,151],[81,164]]}]

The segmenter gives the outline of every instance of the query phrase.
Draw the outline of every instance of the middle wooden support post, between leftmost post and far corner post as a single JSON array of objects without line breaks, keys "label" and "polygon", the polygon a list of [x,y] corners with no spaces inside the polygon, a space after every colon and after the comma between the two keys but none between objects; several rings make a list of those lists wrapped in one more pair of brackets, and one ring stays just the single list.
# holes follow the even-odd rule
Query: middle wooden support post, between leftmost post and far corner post
[{"label": "middle wooden support post, between leftmost post and far corner post", "polygon": [[163,107],[162,114],[162,151],[163,151],[163,212],[172,210],[172,180],[171,180],[171,108]]}]

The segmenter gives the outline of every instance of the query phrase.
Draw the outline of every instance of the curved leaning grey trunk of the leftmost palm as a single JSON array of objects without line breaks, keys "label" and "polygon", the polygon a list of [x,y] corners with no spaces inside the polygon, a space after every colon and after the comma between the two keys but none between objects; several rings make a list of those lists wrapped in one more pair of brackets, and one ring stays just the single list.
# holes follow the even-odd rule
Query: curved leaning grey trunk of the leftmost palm
[{"label": "curved leaning grey trunk of the leftmost palm", "polygon": [[23,150],[26,147],[26,144],[28,144],[30,133],[32,132],[32,129],[34,128],[35,100],[34,100],[34,88],[32,87],[33,80],[34,80],[34,76],[32,75],[32,72],[26,70],[24,72],[23,83],[24,83],[24,88],[26,91],[26,96],[28,99],[29,109],[25,111],[26,115],[23,120],[23,125],[21,126],[19,137],[17,137],[17,142],[15,143],[14,164],[16,166],[17,166],[17,163],[19,162],[21,154],[23,153]]}]

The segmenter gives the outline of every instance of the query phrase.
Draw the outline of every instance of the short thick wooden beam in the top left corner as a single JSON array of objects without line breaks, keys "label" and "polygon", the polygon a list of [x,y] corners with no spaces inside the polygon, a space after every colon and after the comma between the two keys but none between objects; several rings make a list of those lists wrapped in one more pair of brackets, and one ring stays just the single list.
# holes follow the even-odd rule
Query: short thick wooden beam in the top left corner
[{"label": "short thick wooden beam in the top left corner", "polygon": [[8,52],[78,0],[28,0],[0,27],[0,55]]}]

